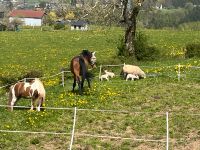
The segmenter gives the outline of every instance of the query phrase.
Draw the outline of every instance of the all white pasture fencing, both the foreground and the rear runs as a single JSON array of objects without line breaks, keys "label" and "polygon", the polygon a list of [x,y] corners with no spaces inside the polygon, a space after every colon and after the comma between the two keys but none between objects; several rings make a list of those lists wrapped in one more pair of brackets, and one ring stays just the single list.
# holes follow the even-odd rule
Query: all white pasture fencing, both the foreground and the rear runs
[{"label": "all white pasture fencing, both the foreground and the rear runs", "polygon": [[[100,65],[99,66],[99,76],[102,73],[102,68],[103,67],[121,67],[124,64],[119,64],[119,65]],[[164,66],[165,68],[176,68],[177,69],[177,79],[178,81],[181,80],[181,77],[183,77],[184,74],[181,74],[182,71],[182,67],[184,65],[172,65],[172,66]],[[159,67],[155,67],[155,66],[141,66],[142,68],[161,68],[161,66]],[[191,69],[200,69],[199,66],[187,66],[188,68]],[[60,76],[61,75],[61,81],[62,81],[62,86],[65,86],[65,73],[69,73],[70,71],[64,71],[62,70],[61,72],[48,76],[48,77],[41,77],[41,79],[47,79],[47,78],[53,78],[56,76]],[[170,75],[167,75],[169,77],[173,77]],[[19,81],[26,81],[28,79],[33,79],[33,78],[24,78],[22,80]],[[199,78],[193,78],[193,79],[199,79]],[[18,81],[18,82],[19,82]],[[8,87],[12,84],[6,84],[0,87],[0,89]],[[7,105],[0,105],[0,107],[8,107]],[[29,108],[29,107],[25,107],[25,106],[14,106],[14,107],[18,107],[18,108]],[[0,132],[6,132],[6,133],[30,133],[30,134],[52,134],[52,135],[70,135],[71,136],[71,141],[70,141],[70,145],[69,145],[69,149],[71,150],[73,147],[73,142],[74,142],[74,136],[84,136],[84,137],[95,137],[95,138],[109,138],[109,139],[123,139],[123,140],[133,140],[133,141],[144,141],[144,142],[162,142],[162,143],[166,143],[166,150],[169,149],[169,113],[166,112],[166,140],[160,139],[160,140],[154,140],[154,139],[143,139],[143,138],[130,138],[130,137],[120,137],[120,136],[110,136],[110,135],[92,135],[92,134],[83,134],[83,133],[76,133],[75,132],[75,127],[76,127],[76,117],[77,117],[77,111],[85,111],[85,110],[89,110],[89,111],[96,111],[96,112],[112,112],[112,113],[133,113],[133,114],[143,114],[143,113],[151,113],[151,112],[129,112],[129,111],[116,111],[116,110],[95,110],[95,109],[78,109],[78,108],[58,108],[58,107],[43,107],[44,109],[54,109],[54,110],[74,110],[74,119],[73,119],[73,125],[72,125],[72,131],[71,133],[61,133],[61,132],[48,132],[48,131],[42,131],[42,132],[35,132],[35,131],[12,131],[12,130],[0,130]],[[153,114],[153,113],[151,113]],[[158,115],[158,114],[156,114]],[[164,115],[163,113],[160,115]],[[183,115],[181,114],[176,114],[176,115]],[[200,114],[189,114],[189,115],[194,115],[194,116],[200,116]]]}]

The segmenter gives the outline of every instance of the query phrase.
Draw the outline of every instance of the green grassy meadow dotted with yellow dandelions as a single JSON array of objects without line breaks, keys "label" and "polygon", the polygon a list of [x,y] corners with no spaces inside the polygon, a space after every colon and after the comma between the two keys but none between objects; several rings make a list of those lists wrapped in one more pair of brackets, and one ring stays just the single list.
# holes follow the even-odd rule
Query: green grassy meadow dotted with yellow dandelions
[{"label": "green grassy meadow dotted with yellow dandelions", "polygon": [[[43,73],[47,99],[45,109],[30,112],[15,108],[13,112],[0,107],[0,130],[56,132],[64,135],[0,133],[0,149],[43,150],[67,149],[73,125],[74,107],[77,121],[73,149],[165,149],[164,142],[134,141],[137,139],[165,140],[166,112],[169,112],[170,149],[198,149],[200,145],[199,59],[183,59],[185,44],[200,42],[200,32],[144,30],[149,43],[166,56],[153,62],[134,62],[116,56],[117,43],[123,30],[96,29],[87,32],[23,30],[0,32],[0,86],[5,80],[20,80],[29,71]],[[83,96],[72,93],[71,74],[66,74],[61,85],[61,68],[69,68],[70,59],[82,49],[96,51],[97,68],[92,88],[85,84]],[[104,67],[117,75],[109,82],[98,80],[99,66],[108,64],[136,64],[147,73],[147,78],[125,81],[119,76],[121,67]],[[177,79],[181,64],[181,80]],[[6,89],[0,89],[0,105],[7,104]],[[17,106],[30,106],[21,99]],[[89,110],[88,110],[89,109]],[[99,112],[114,110],[127,112]],[[87,135],[87,136],[86,136]],[[89,136],[90,135],[90,136]],[[127,139],[99,138],[123,137]]]}]

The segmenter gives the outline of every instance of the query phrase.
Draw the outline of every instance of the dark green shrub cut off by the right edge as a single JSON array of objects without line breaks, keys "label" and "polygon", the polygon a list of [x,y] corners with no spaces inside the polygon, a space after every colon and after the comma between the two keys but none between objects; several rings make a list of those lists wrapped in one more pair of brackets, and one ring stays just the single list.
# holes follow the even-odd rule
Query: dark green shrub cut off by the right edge
[{"label": "dark green shrub cut off by the right edge", "polygon": [[186,58],[200,57],[200,43],[190,43],[186,45]]}]

